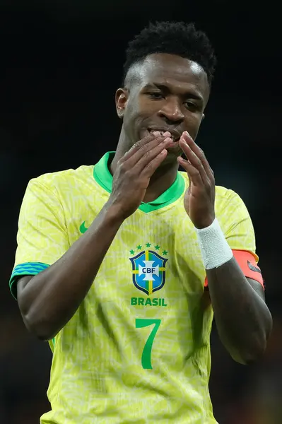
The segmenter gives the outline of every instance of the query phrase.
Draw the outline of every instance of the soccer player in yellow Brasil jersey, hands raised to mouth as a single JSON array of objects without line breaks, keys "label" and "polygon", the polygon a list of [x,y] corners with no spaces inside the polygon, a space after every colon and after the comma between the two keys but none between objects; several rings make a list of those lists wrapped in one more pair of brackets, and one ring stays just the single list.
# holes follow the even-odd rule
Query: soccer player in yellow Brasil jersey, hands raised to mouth
[{"label": "soccer player in yellow Brasil jersey, hands raised to mouth", "polygon": [[53,351],[42,424],[216,423],[213,313],[235,361],[264,353],[252,221],[195,143],[215,64],[194,25],[149,25],[127,49],[117,150],[28,184],[10,285]]}]

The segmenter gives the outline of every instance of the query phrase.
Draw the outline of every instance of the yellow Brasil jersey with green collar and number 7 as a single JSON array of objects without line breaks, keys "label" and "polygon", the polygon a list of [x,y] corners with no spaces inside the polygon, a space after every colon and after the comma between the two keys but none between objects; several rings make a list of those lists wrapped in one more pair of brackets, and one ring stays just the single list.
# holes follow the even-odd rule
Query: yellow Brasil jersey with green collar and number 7
[{"label": "yellow Brasil jersey with green collar and number 7", "polygon": [[[81,166],[31,179],[18,223],[10,280],[54,264],[110,196],[106,153]],[[119,228],[88,295],[53,341],[41,424],[215,424],[208,379],[211,305],[205,269],[184,211],[186,172]],[[235,192],[216,187],[216,216],[232,249],[256,260],[252,221]]]}]

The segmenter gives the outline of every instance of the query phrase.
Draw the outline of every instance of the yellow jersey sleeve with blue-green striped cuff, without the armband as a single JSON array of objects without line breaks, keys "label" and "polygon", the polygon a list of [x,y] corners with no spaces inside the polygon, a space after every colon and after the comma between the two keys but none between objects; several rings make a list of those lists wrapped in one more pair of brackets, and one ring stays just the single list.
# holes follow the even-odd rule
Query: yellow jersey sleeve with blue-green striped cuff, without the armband
[{"label": "yellow jersey sleeve with blue-green striped cuff, without the armband", "polygon": [[56,192],[32,179],[23,197],[18,218],[16,259],[10,290],[16,298],[16,280],[35,276],[54,264],[69,249],[64,209]]}]

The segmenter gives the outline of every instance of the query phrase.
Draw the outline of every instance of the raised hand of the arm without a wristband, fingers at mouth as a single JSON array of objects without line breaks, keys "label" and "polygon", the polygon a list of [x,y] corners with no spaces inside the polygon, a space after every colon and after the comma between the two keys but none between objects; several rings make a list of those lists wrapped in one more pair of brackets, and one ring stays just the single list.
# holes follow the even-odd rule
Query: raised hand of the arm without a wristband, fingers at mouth
[{"label": "raised hand of the arm without a wristband, fingers at mouth", "polygon": [[168,131],[163,136],[155,131],[134,144],[118,161],[108,202],[119,218],[125,219],[139,208],[150,178],[168,154],[166,148],[170,143]]}]

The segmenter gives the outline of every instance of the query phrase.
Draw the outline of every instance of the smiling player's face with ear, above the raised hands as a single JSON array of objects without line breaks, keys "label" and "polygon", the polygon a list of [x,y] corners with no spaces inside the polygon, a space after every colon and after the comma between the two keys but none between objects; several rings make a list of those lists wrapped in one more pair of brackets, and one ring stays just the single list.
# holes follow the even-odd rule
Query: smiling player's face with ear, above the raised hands
[{"label": "smiling player's face with ear, above the raised hands", "polygon": [[209,95],[204,70],[173,54],[151,54],[129,70],[128,81],[128,88],[116,94],[127,148],[149,131],[170,131],[175,146],[169,153],[180,155],[177,139],[183,131],[195,139],[204,117]]}]

